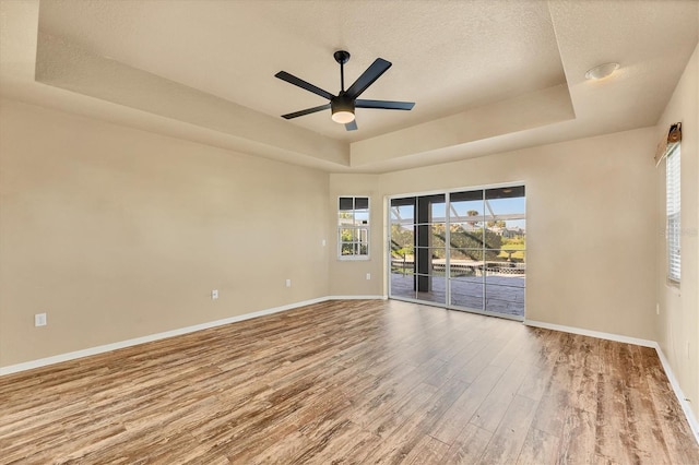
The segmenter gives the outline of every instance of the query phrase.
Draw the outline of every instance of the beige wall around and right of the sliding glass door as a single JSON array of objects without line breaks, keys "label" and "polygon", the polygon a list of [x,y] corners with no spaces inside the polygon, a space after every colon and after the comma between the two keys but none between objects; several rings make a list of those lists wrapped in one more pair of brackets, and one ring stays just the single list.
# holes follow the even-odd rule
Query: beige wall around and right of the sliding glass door
[{"label": "beige wall around and right of the sliding glass door", "polygon": [[[378,195],[523,181],[526,319],[655,339],[655,142],[649,128],[392,172]],[[351,175],[331,177],[331,192],[337,183]],[[352,265],[331,266],[333,285],[371,291]]]}]

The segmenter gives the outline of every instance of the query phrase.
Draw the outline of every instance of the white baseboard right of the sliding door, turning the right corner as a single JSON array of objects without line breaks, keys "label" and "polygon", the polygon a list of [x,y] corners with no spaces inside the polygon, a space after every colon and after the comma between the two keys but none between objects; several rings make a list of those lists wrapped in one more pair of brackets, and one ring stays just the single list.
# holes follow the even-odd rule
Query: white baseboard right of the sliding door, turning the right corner
[{"label": "white baseboard right of the sliding door, turning the right corner", "polygon": [[524,320],[524,324],[529,326],[543,327],[546,330],[561,331],[564,333],[580,334],[582,336],[590,336],[590,337],[596,337],[600,339],[614,341],[617,343],[635,344],[638,346],[654,348],[655,351],[657,353],[657,358],[660,358],[660,362],[663,366],[663,370],[665,370],[665,375],[670,381],[670,385],[673,388],[673,391],[675,392],[675,396],[677,397],[677,401],[682,406],[685,417],[687,418],[687,422],[689,424],[689,428],[691,429],[691,432],[695,436],[695,440],[697,441],[697,443],[699,443],[699,421],[697,421],[697,417],[695,417],[695,414],[691,409],[691,406],[689,405],[689,402],[687,401],[687,397],[685,397],[685,394],[683,393],[682,388],[679,388],[679,382],[677,382],[677,378],[675,378],[675,373],[673,372],[673,369],[670,366],[670,360],[667,360],[667,357],[665,357],[665,354],[663,354],[663,349],[660,347],[660,345],[655,341],[639,339],[637,337],[621,336],[619,334],[612,334],[612,333],[602,333],[599,331],[583,330],[583,329],[573,327],[573,326],[562,326],[559,324],[545,323],[542,321]]}]

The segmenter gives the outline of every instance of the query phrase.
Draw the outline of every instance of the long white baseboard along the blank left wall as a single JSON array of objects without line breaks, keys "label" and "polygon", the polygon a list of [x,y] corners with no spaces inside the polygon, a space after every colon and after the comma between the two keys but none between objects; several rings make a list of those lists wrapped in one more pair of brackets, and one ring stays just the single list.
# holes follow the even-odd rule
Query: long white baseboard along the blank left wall
[{"label": "long white baseboard along the blank left wall", "polygon": [[210,327],[223,326],[224,324],[230,324],[230,323],[236,323],[238,321],[245,321],[245,320],[250,320],[258,317],[279,313],[279,312],[292,310],[298,307],[309,306],[311,303],[324,302],[327,300],[331,300],[331,298],[320,297],[317,299],[304,300],[301,302],[295,302],[286,306],[274,307],[271,309],[260,310],[252,313],[239,314],[236,317],[225,318],[223,320],[210,321],[206,323],[196,324],[193,326],[187,326],[187,327],[180,327],[178,330],[166,331],[164,333],[150,334],[147,336],[135,337],[133,339],[120,341],[118,343],[105,344],[103,346],[91,347],[82,350],[70,351],[67,354],[55,355],[52,357],[40,358],[38,360],[26,361],[17,365],[10,365],[8,367],[0,367],[0,375],[32,370],[34,368],[46,367],[48,365],[54,365],[54,363],[60,363],[61,361],[75,360],[78,358],[90,357],[91,355],[104,354],[106,351],[131,347],[139,344],[151,343],[153,341],[164,339],[166,337],[173,337],[173,336],[179,336],[182,334],[193,333],[196,331],[209,330]]}]

